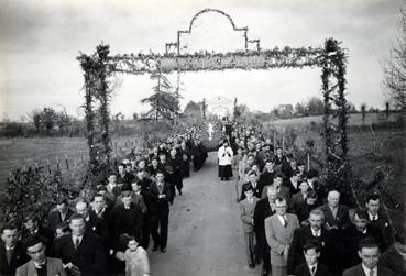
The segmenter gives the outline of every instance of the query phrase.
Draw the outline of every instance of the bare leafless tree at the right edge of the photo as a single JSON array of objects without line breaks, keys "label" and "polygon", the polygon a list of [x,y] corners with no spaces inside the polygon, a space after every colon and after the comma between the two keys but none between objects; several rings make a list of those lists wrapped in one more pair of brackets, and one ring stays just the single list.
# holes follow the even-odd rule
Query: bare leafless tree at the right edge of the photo
[{"label": "bare leafless tree at the right edge of the photo", "polygon": [[[406,0],[404,1],[406,4]],[[406,7],[400,9],[399,35],[383,64],[385,93],[395,109],[406,110]]]}]

